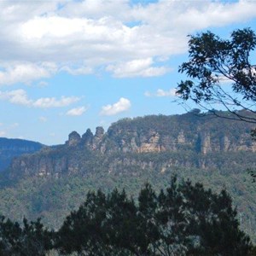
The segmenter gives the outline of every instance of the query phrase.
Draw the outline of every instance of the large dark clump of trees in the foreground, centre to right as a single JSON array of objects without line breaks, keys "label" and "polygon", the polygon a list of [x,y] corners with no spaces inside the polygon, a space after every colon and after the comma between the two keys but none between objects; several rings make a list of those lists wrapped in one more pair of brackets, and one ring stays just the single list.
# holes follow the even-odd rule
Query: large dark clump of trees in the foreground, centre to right
[{"label": "large dark clump of trees in the foreground, centre to right", "polygon": [[67,255],[246,256],[251,248],[225,190],[214,194],[176,177],[159,195],[146,184],[138,203],[125,191],[89,193],[56,237]]}]

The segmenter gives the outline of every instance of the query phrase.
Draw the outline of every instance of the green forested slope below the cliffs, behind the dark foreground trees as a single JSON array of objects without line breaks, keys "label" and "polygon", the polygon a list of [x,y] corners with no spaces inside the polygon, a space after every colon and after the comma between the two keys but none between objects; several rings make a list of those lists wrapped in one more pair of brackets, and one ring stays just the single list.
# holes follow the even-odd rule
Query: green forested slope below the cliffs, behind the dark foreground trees
[{"label": "green forested slope below the cliffs, behind the dark foreground trees", "polygon": [[[111,154],[98,159],[101,165],[83,176],[56,178],[27,177],[13,186],[0,189],[1,214],[22,220],[42,218],[50,228],[58,229],[68,212],[78,209],[89,190],[108,193],[115,187],[125,189],[137,198],[145,181],[154,189],[168,186],[172,174],[201,181],[207,188],[219,192],[226,188],[241,214],[241,228],[255,241],[256,190],[244,169],[255,165],[255,155],[249,152],[195,154],[190,151]],[[201,166],[208,166],[201,168]],[[112,172],[108,172],[112,166]],[[255,168],[255,166],[253,166]]]}]

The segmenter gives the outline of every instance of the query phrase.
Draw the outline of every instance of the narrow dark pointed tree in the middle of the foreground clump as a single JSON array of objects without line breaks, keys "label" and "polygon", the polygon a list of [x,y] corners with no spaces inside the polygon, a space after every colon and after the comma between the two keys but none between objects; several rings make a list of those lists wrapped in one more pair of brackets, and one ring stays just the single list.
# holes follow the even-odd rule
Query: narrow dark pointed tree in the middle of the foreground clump
[{"label": "narrow dark pointed tree in the middle of the foreground clump", "polygon": [[[184,207],[183,193],[177,177],[172,177],[170,186],[160,191],[156,222],[159,227],[160,241],[157,247],[160,255],[186,255],[191,237],[189,234],[189,216]],[[192,238],[193,239],[193,238]]]}]

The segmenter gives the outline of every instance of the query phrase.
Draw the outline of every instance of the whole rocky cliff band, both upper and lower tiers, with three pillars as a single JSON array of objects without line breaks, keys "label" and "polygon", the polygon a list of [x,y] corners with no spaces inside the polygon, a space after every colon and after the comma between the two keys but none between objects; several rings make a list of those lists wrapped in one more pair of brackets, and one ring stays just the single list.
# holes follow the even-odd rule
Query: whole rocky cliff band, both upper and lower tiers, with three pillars
[{"label": "whole rocky cliff band, both upper and lower tiers, with three pillars", "polygon": [[[208,154],[256,152],[250,131],[253,125],[215,119],[214,116],[195,116],[191,113],[175,116],[147,116],[122,119],[107,132],[96,128],[95,135],[88,129],[84,135],[73,131],[64,145],[45,148],[37,154],[13,161],[10,176],[36,175],[61,177],[73,173],[93,172],[114,168],[160,168],[170,166],[217,166],[207,159]],[[156,164],[156,155],[165,158]],[[189,154],[189,158],[185,155]],[[142,155],[150,155],[142,160]]]}]

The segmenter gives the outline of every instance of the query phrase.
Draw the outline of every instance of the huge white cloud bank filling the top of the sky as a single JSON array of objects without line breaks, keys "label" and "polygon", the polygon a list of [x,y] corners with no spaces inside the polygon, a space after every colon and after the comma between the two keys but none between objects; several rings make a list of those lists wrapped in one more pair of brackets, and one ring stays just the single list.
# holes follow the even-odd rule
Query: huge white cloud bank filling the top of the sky
[{"label": "huge white cloud bank filling the top of the sky", "polygon": [[99,67],[119,78],[159,76],[170,71],[161,60],[187,51],[187,34],[255,17],[256,2],[245,0],[0,1],[0,84]]}]

